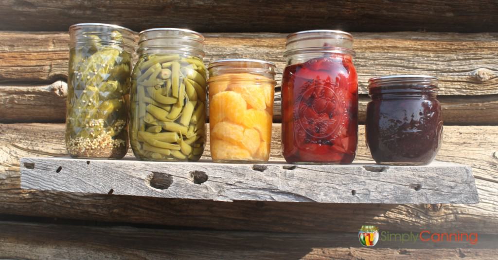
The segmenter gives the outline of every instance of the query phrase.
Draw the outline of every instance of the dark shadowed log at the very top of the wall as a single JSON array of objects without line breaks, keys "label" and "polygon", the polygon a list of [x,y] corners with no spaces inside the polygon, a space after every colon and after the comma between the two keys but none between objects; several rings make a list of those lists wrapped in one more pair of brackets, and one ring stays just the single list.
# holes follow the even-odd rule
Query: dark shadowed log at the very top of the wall
[{"label": "dark shadowed log at the very top of the wall", "polygon": [[[389,9],[389,11],[386,11]],[[493,1],[2,1],[2,30],[67,30],[79,22],[118,23],[133,30],[186,27],[198,31],[291,32],[316,28],[353,31],[498,31]],[[173,15],[174,14],[174,15]],[[12,19],[16,17],[16,19]],[[57,17],[57,19],[54,19]],[[147,18],[144,18],[147,17]]]}]

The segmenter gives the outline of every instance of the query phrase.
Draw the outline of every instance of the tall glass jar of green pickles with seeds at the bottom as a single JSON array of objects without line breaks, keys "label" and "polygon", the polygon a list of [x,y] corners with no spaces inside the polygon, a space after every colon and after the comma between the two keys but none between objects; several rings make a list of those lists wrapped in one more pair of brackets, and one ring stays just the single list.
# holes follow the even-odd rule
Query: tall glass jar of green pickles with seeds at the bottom
[{"label": "tall glass jar of green pickles with seeds at the bottom", "polygon": [[66,148],[71,157],[121,159],[128,151],[134,32],[117,25],[69,27]]}]

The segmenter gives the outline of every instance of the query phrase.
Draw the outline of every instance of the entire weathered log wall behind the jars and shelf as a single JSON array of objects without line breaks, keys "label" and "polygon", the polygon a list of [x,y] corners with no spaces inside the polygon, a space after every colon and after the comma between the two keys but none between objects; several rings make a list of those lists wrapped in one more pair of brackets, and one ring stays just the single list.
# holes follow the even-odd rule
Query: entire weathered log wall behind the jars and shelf
[{"label": "entire weathered log wall behind the jars and shelf", "polygon": [[[491,243],[498,235],[496,13],[494,0],[1,1],[0,258],[496,259]],[[438,77],[446,126],[437,160],[471,166],[480,203],[219,202],[20,189],[20,157],[66,156],[66,30],[89,21],[136,31],[164,26],[198,30],[207,38],[205,62],[228,57],[272,61],[278,81],[287,32],[352,31],[360,122],[365,121],[369,78]],[[271,158],[281,160],[278,87]],[[371,160],[363,131],[361,125],[357,159]],[[46,225],[39,217],[59,224]],[[83,222],[64,226],[55,218]],[[26,219],[37,223],[20,222]],[[478,245],[356,248],[358,229],[365,224],[404,232],[478,232],[480,240]],[[115,225],[154,229],[110,227]]]}]

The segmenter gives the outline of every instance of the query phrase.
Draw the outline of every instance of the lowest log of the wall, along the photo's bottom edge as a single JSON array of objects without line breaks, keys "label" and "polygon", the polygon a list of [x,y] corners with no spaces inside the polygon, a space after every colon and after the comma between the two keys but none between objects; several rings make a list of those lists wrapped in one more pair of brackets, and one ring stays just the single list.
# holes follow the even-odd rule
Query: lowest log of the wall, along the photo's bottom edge
[{"label": "lowest log of the wall, along the photo's bottom edge", "polygon": [[[456,259],[492,260],[496,236],[362,247],[358,233],[284,234],[0,222],[2,259]],[[409,234],[409,233],[408,233]],[[474,237],[473,237],[474,239]]]}]

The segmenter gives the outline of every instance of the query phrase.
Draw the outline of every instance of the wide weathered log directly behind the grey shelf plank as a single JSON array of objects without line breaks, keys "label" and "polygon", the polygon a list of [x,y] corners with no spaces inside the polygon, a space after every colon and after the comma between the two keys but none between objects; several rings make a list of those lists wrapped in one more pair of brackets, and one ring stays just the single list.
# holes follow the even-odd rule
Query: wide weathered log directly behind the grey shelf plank
[{"label": "wide weathered log directly behind the grey shelf plank", "polygon": [[[360,126],[358,160],[371,160]],[[326,204],[219,202],[22,190],[20,157],[67,156],[63,124],[0,124],[0,213],[231,230],[288,232],[358,231],[368,220],[380,229],[498,234],[498,129],[445,126],[437,160],[466,164],[476,178],[480,203]],[[271,160],[282,158],[274,124]],[[131,155],[131,154],[128,154]],[[209,146],[204,158],[209,159]],[[313,214],[310,214],[312,212]]]}]

